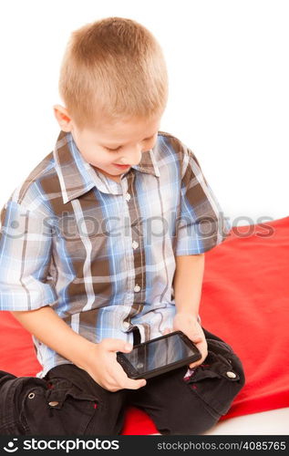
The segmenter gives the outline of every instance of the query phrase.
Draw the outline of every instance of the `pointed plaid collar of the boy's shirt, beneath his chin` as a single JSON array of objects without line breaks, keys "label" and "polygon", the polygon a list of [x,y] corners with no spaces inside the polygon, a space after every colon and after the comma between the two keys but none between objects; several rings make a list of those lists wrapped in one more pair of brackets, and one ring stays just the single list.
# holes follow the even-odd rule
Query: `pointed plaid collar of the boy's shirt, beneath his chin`
[{"label": "pointed plaid collar of the boy's shirt, beneath his chin", "polygon": [[[131,168],[160,177],[153,150],[154,148],[142,153],[139,165]],[[119,186],[117,182],[107,179],[104,174],[93,169],[78,150],[70,132],[60,131],[53,156],[64,203],[88,192],[94,186],[101,192],[110,193],[108,181],[116,184],[114,188]],[[115,193],[118,194],[118,191]]]}]

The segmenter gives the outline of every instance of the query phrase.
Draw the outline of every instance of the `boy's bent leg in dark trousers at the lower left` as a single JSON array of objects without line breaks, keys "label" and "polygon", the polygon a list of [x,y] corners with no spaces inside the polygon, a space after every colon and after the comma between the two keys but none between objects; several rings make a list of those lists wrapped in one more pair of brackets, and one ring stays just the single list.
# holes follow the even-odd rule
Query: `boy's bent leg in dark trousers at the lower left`
[{"label": "boy's bent leg in dark trousers at the lower left", "polygon": [[101,388],[72,364],[45,378],[0,371],[0,435],[117,435],[123,425],[126,390]]}]

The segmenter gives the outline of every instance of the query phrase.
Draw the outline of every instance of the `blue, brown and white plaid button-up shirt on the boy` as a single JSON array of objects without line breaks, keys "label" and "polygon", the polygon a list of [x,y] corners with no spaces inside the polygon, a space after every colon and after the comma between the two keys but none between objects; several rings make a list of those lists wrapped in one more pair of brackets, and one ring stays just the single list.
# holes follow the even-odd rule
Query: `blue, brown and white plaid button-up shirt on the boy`
[{"label": "blue, brown and white plaid button-up shirt on the boy", "polygon": [[[98,343],[161,336],[175,315],[175,256],[202,254],[229,233],[193,152],[159,131],[113,181],[60,131],[50,152],[1,212],[0,309],[51,306],[67,325]],[[33,336],[46,372],[66,358]]]}]

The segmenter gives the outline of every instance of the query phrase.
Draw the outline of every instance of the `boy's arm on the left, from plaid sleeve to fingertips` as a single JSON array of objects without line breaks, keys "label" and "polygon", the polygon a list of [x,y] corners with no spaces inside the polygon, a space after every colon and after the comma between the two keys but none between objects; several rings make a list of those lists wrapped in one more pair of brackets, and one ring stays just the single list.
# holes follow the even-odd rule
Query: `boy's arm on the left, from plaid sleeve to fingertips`
[{"label": "boy's arm on the left, from plaid sleeve to fingertips", "polygon": [[[36,199],[35,192],[26,193],[29,202]],[[11,197],[1,210],[0,309],[10,311],[46,347],[86,370],[103,388],[140,388],[145,380],[128,378],[117,362],[116,352],[128,352],[132,347],[113,338],[94,344],[73,331],[53,309],[57,292],[54,281],[46,280],[53,221],[46,204],[38,202],[37,209],[31,210]]]}]

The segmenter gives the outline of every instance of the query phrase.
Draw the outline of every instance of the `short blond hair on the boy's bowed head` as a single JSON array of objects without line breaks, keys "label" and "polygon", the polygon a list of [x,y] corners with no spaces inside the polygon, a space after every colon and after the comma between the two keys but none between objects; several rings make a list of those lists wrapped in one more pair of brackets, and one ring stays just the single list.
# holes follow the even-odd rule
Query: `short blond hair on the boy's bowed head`
[{"label": "short blond hair on the boy's bowed head", "polygon": [[107,17],[73,31],[59,78],[59,94],[77,127],[98,119],[162,114],[168,75],[150,31],[123,17]]}]

